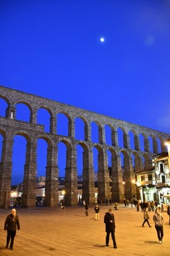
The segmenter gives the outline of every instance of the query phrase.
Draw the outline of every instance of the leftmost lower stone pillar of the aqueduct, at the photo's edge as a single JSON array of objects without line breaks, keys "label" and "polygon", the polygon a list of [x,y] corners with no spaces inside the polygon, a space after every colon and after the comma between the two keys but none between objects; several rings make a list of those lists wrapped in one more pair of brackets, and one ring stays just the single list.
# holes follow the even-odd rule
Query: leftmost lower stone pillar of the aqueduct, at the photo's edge
[{"label": "leftmost lower stone pillar of the aqueduct, at the photo's edge", "polygon": [[0,163],[0,208],[6,209],[10,207],[13,143],[10,137],[3,139]]}]

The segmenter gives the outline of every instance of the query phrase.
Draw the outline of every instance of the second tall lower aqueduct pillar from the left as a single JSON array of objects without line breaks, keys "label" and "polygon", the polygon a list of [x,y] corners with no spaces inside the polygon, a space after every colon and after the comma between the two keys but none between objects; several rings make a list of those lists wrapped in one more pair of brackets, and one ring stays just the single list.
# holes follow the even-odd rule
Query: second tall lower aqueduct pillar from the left
[{"label": "second tall lower aqueduct pillar from the left", "polygon": [[27,142],[26,164],[24,165],[22,207],[35,207],[36,200],[36,141]]}]

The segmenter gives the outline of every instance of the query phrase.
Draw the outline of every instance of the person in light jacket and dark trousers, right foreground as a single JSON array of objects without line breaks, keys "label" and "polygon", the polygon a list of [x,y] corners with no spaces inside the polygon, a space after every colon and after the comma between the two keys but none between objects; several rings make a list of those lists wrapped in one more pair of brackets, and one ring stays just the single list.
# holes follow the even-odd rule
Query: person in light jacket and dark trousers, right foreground
[{"label": "person in light jacket and dark trousers, right foreground", "polygon": [[155,222],[155,229],[157,231],[157,237],[159,239],[159,243],[163,243],[163,236],[164,236],[164,230],[163,230],[163,224],[164,224],[164,218],[163,215],[159,212],[159,209],[155,210],[155,214],[153,217],[153,220]]}]

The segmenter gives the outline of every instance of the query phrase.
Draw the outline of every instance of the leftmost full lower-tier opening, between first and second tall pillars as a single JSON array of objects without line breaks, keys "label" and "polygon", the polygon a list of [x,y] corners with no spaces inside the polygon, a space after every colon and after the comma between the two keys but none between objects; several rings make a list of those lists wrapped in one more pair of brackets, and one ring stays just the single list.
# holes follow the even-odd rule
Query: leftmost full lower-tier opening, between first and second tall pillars
[{"label": "leftmost full lower-tier opening, between first and second tall pillars", "polygon": [[22,135],[15,135],[13,145],[13,169],[11,175],[11,185],[18,185],[23,182],[24,165],[26,163],[27,140]]}]

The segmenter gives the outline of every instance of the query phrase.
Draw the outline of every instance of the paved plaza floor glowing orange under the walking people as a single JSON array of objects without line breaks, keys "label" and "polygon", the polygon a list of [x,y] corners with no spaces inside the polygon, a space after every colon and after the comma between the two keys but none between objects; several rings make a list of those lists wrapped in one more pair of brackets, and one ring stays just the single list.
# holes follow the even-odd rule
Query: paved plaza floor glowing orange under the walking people
[{"label": "paved plaza floor glowing orange under the walking people", "polygon": [[142,227],[143,213],[135,207],[125,208],[119,205],[114,210],[115,233],[118,249],[105,246],[105,224],[103,217],[109,206],[100,206],[99,221],[95,221],[94,206],[89,207],[89,217],[85,217],[83,207],[58,208],[37,207],[34,209],[16,209],[20,220],[20,231],[17,231],[14,250],[5,248],[6,232],[3,225],[9,210],[0,209],[0,255],[22,256],[110,256],[110,255],[139,255],[139,256],[169,256],[170,255],[170,226],[169,216],[164,217],[164,243],[159,244],[152,221],[154,213],[150,213],[151,228],[145,223]]}]

